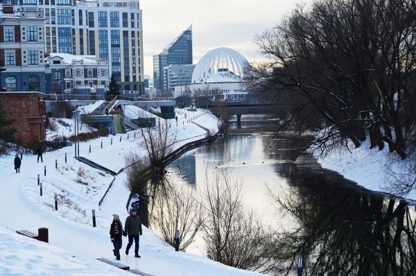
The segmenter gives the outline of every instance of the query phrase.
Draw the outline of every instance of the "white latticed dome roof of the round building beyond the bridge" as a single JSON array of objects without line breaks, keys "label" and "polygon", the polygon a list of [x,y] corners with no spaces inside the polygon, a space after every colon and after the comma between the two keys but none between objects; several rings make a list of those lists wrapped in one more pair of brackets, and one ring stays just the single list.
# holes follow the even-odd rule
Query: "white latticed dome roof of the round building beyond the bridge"
[{"label": "white latticed dome roof of the round building beyond the bridge", "polygon": [[248,61],[230,48],[216,48],[204,55],[192,74],[192,84],[241,82]]}]

